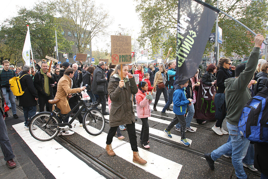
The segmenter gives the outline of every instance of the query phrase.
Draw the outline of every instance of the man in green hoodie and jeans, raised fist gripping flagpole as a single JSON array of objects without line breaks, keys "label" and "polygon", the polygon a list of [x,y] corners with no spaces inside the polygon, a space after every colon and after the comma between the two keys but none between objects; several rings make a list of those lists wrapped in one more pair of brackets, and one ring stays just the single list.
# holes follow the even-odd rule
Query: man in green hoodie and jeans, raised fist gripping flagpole
[{"label": "man in green hoodie and jeans, raised fist gripping flagpole", "polygon": [[[242,159],[247,153],[250,141],[244,138],[237,130],[238,122],[241,116],[241,111],[245,104],[250,100],[251,93],[248,85],[252,84],[252,77],[258,64],[260,55],[260,46],[265,40],[263,35],[257,34],[255,36],[255,45],[248,58],[247,63],[241,63],[236,66],[235,78],[228,78],[225,80],[225,98],[227,107],[227,128],[231,141],[220,146],[211,153],[205,153],[204,157],[209,164],[211,170],[214,170],[214,162],[223,154],[232,152],[232,164],[235,168],[237,178],[246,179],[247,174],[244,171]],[[254,82],[254,81],[253,81]]]}]

